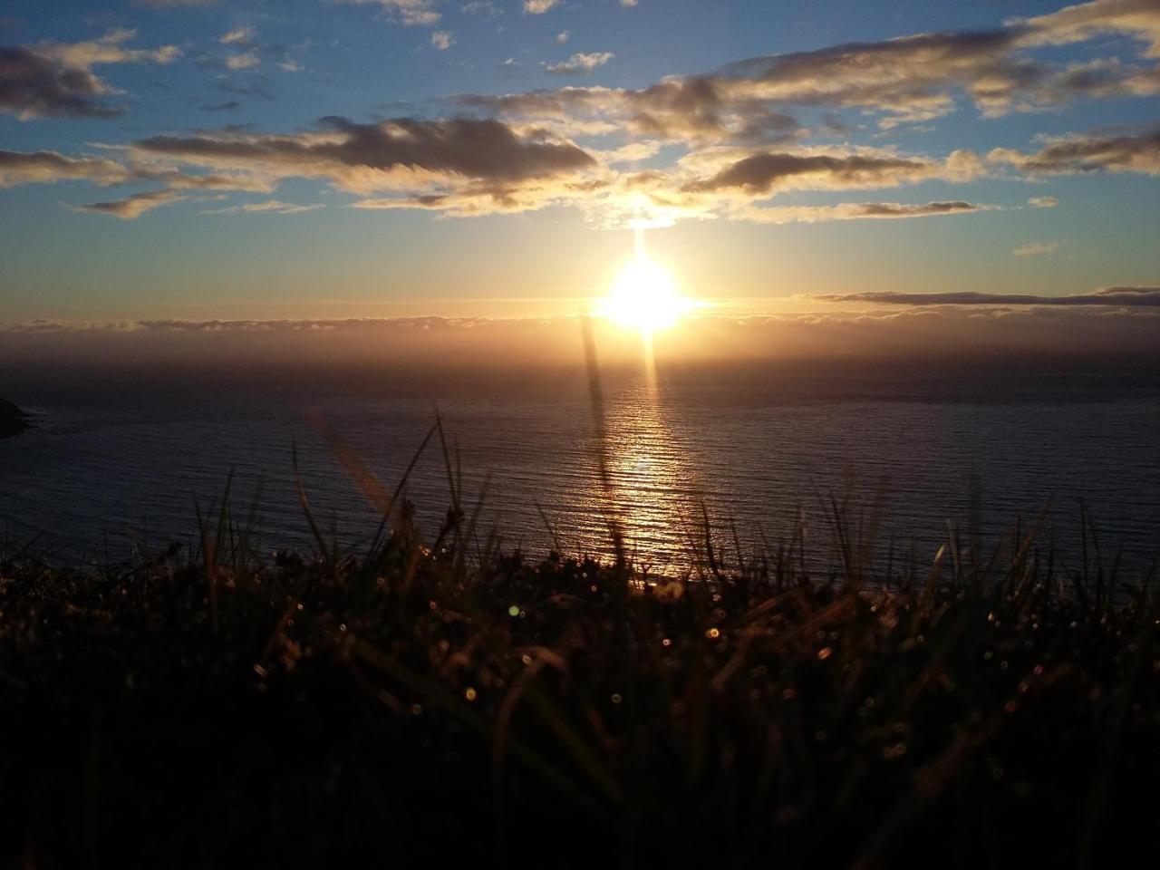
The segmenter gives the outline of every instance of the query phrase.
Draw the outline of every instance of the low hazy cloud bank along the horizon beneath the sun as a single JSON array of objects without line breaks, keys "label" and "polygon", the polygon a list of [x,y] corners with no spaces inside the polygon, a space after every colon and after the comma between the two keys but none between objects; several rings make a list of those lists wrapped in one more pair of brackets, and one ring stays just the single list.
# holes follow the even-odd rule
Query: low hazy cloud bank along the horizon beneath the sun
[{"label": "low hazy cloud bank along the horizon beneath the sun", "polygon": [[[639,336],[601,320],[594,322],[601,360],[632,365]],[[465,376],[530,363],[575,369],[582,357],[574,317],[445,319],[438,317],[367,319],[237,319],[145,321],[39,320],[0,322],[0,368],[67,365],[74,377],[94,384],[108,367],[138,365],[143,371],[278,371],[304,360],[435,363],[433,371],[455,368]],[[768,374],[762,361],[818,362],[827,371],[868,362],[897,363],[926,380],[962,386],[964,363],[1000,363],[1005,377],[1059,371],[1090,374],[1107,361],[1130,372],[1160,361],[1160,309],[1115,306],[950,306],[907,309],[832,307],[829,311],[738,317],[699,314],[682,327],[655,336],[660,358],[748,360]],[[931,369],[927,363],[938,363]],[[387,369],[383,371],[389,372]],[[931,378],[931,375],[935,377]],[[1032,379],[1028,383],[1034,385]],[[579,389],[578,384],[578,389]],[[986,386],[986,385],[984,385]],[[960,390],[958,390],[962,392]],[[984,392],[979,392],[984,396]]]}]

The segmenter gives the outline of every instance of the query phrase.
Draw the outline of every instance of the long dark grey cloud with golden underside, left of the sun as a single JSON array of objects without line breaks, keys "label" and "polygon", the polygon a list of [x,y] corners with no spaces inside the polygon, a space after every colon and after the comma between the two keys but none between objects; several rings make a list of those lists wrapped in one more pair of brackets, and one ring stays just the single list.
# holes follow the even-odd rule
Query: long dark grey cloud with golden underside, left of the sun
[{"label": "long dark grey cloud with golden underside, left of the sun", "polygon": [[132,219],[183,191],[270,193],[284,179],[328,181],[356,194],[389,193],[376,208],[438,208],[449,213],[525,211],[579,202],[594,190],[596,159],[543,131],[498,121],[396,118],[356,124],[327,118],[312,133],[252,135],[237,129],[152,137],[108,148],[119,159],[0,151],[0,186],[84,180],[101,187],[137,181],[159,190],[77,206]]}]

